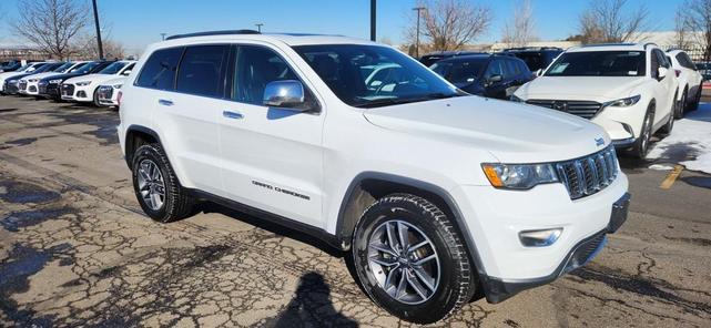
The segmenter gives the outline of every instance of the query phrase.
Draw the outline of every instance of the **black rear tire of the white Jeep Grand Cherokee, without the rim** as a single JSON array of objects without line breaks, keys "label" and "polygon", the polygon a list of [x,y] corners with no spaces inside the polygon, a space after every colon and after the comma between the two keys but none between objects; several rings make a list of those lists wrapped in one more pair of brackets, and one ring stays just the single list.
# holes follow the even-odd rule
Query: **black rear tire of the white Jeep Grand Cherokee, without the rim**
[{"label": "black rear tire of the white Jeep Grand Cherokee, without the rim", "polygon": [[[139,186],[141,165],[149,163],[154,163],[158,166],[162,182],[164,183],[164,187],[162,188],[164,195],[162,206],[158,208],[146,203]],[[149,217],[156,222],[169,223],[187,217],[191,214],[194,202],[180,185],[177,176],[160,144],[146,144],[139,147],[133,155],[131,171],[133,176],[133,191],[135,192],[141,208],[143,208],[143,212],[145,212]]]}]

